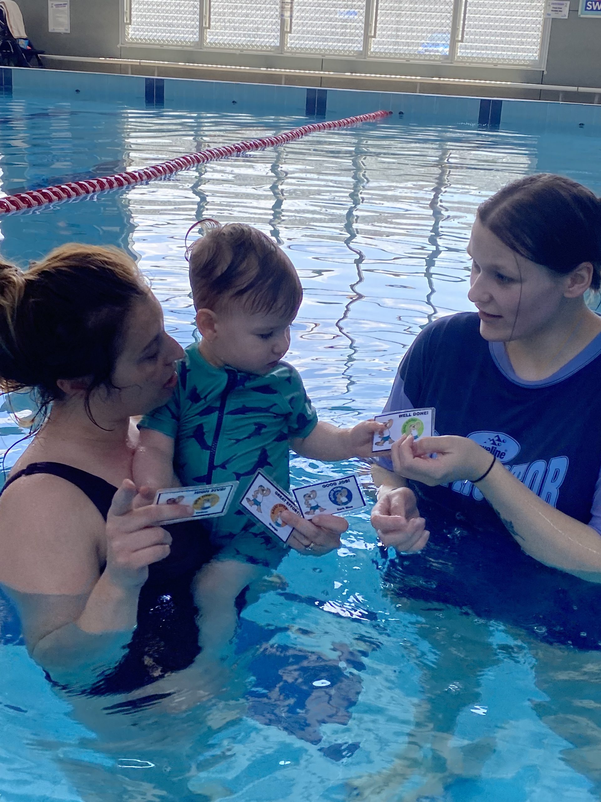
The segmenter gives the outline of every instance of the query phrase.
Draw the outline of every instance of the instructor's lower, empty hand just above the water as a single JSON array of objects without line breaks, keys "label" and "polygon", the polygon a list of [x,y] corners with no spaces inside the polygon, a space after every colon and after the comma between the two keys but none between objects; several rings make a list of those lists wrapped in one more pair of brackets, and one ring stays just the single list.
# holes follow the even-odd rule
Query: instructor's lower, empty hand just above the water
[{"label": "instructor's lower, empty hand just above the water", "polygon": [[430,537],[409,488],[393,488],[381,496],[372,510],[372,526],[383,545],[401,552],[421,551]]}]

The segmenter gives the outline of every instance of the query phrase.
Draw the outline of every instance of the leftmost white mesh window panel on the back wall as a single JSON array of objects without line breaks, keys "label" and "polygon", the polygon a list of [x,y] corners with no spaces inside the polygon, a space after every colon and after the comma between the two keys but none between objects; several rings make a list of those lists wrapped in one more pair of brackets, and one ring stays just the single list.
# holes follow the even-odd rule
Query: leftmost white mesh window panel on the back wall
[{"label": "leftmost white mesh window panel on the back wall", "polygon": [[200,0],[131,0],[128,42],[198,42]]}]

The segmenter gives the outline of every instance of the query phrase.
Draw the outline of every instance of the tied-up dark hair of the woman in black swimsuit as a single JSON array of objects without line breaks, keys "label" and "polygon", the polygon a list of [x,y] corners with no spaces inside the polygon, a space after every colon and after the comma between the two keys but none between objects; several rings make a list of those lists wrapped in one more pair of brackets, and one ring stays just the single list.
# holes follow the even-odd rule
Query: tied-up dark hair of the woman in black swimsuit
[{"label": "tied-up dark hair of the woman in black swimsuit", "polygon": [[21,269],[0,260],[0,390],[33,388],[42,410],[58,379],[89,379],[86,409],[111,377],[132,304],[148,289],[118,249],[63,245]]}]

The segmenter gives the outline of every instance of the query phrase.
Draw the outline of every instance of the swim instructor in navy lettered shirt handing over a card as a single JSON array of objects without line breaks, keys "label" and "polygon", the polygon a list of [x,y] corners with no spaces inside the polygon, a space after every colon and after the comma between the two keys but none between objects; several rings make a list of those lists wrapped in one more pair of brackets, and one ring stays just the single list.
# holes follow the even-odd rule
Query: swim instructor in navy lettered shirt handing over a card
[{"label": "swim instructor in navy lettered shirt handing over a card", "polygon": [[378,458],[373,526],[416,552],[419,508],[446,509],[599,582],[601,318],[584,297],[600,285],[601,201],[561,176],[515,181],[478,209],[468,253],[478,313],[422,330],[385,407],[435,407],[439,436]]}]

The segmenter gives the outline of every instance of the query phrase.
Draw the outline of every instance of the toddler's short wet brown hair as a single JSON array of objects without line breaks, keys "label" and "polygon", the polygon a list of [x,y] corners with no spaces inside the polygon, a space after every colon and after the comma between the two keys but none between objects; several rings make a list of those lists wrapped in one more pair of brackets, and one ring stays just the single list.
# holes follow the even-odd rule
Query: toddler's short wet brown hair
[{"label": "toddler's short wet brown hair", "polygon": [[252,313],[293,318],[303,298],[294,265],[276,243],[241,223],[205,229],[190,249],[190,285],[196,309],[230,304]]}]

